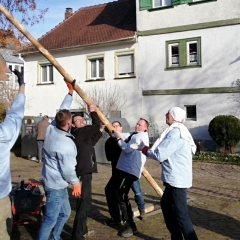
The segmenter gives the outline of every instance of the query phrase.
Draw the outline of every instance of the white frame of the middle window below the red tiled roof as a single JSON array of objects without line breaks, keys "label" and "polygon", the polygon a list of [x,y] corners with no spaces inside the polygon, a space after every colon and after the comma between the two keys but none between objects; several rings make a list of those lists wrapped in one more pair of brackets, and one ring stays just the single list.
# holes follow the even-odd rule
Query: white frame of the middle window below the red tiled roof
[{"label": "white frame of the middle window below the red tiled roof", "polygon": [[[96,61],[96,76],[92,76],[92,61]],[[103,60],[103,76],[100,76],[100,69],[99,69],[99,60]],[[104,66],[104,54],[98,55],[88,55],[87,56],[87,79],[89,80],[98,80],[104,79],[105,74],[105,66]]]}]

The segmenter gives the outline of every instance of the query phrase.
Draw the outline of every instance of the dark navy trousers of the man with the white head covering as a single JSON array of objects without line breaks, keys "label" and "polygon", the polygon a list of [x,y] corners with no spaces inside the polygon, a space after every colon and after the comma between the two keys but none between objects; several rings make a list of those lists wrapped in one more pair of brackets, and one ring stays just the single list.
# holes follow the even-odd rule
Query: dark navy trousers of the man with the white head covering
[{"label": "dark navy trousers of the man with the white head covering", "polygon": [[186,188],[166,186],[161,208],[171,240],[182,240],[183,237],[185,240],[198,239],[188,215]]}]

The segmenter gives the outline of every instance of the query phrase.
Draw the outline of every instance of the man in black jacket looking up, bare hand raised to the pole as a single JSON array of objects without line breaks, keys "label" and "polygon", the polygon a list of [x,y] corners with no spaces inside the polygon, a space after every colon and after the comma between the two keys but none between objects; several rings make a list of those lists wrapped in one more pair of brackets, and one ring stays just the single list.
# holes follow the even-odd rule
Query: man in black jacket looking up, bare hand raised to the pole
[{"label": "man in black jacket looking up, bare hand raised to the pole", "polygon": [[102,136],[103,128],[95,112],[95,104],[88,106],[92,125],[85,125],[80,114],[72,117],[71,133],[75,137],[77,147],[76,173],[82,182],[81,197],[77,199],[76,215],[73,224],[72,240],[82,240],[94,235],[94,231],[88,231],[87,216],[92,202],[92,173],[97,172],[94,145]]}]

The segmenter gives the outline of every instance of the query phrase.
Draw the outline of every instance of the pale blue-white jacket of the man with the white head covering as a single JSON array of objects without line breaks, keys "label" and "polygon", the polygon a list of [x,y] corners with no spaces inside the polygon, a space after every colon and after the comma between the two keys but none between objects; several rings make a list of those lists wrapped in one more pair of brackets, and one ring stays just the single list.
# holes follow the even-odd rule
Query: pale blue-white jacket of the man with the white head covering
[{"label": "pale blue-white jacket of the man with the white head covering", "polygon": [[179,128],[173,128],[147,156],[162,163],[161,180],[177,188],[192,186],[192,145],[181,138]]}]

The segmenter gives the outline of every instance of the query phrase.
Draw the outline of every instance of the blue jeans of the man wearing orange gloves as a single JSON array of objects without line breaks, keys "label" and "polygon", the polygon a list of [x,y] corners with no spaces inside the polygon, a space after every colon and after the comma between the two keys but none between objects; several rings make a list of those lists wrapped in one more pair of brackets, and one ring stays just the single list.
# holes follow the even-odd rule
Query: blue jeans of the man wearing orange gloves
[{"label": "blue jeans of the man wearing orange gloves", "polygon": [[46,240],[52,231],[51,240],[59,240],[65,222],[71,214],[67,188],[52,189],[44,186],[46,212],[38,233],[38,240]]}]

